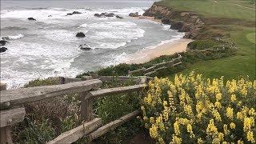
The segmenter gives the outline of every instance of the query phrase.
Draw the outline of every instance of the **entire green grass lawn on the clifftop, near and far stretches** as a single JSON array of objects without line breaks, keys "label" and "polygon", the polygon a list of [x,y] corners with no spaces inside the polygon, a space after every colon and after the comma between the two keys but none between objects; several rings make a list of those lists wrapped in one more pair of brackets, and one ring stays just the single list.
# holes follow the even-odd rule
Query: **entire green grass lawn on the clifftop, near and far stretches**
[{"label": "entire green grass lawn on the clifftop, near and far stretches", "polygon": [[[255,21],[255,6],[250,5],[250,1],[180,1],[165,0],[165,2],[177,10],[191,10],[202,14],[205,18],[238,18],[240,20]],[[239,4],[241,6],[236,6]],[[246,7],[242,7],[246,6]],[[252,10],[253,8],[254,10]],[[222,26],[219,23],[218,26]],[[255,27],[245,27],[236,25],[226,25],[225,33],[230,34],[230,39],[238,47],[234,56],[220,58],[210,61],[202,61],[187,66],[181,73],[190,73],[195,70],[204,74],[207,78],[239,78],[240,76],[256,79],[255,62]],[[174,78],[174,75],[168,76]]]}]

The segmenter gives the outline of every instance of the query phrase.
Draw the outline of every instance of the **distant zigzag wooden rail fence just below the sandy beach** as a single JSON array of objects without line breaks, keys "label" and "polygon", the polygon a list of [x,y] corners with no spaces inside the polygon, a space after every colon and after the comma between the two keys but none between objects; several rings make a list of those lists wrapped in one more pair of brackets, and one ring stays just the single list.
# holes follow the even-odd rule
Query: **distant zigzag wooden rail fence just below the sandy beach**
[{"label": "distant zigzag wooden rail fence just below the sandy beach", "polygon": [[173,58],[171,59],[170,62],[161,62],[161,63],[154,64],[149,68],[142,67],[141,69],[138,69],[138,70],[128,71],[128,75],[130,76],[133,74],[142,73],[145,76],[150,76],[151,74],[155,74],[159,70],[166,69],[169,66],[177,66],[179,64],[182,64],[181,59],[182,59],[182,56],[178,54],[178,58]]}]

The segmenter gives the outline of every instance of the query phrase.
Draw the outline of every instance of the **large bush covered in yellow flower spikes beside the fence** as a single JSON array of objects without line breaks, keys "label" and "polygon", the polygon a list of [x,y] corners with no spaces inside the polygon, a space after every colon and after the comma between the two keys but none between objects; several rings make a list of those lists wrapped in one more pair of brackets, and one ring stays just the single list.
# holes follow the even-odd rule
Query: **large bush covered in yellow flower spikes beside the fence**
[{"label": "large bush covered in yellow flower spikes beside the fence", "polygon": [[202,74],[154,78],[142,122],[158,143],[255,143],[256,81]]}]

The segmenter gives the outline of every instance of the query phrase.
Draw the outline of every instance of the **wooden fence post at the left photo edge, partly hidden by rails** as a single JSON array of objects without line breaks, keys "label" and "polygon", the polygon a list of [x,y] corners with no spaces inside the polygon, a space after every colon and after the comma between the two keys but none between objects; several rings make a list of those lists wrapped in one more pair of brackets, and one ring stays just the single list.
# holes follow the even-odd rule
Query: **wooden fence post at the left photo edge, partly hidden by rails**
[{"label": "wooden fence post at the left photo edge, partly hidden by rails", "polygon": [[[6,83],[1,83],[1,90],[6,90]],[[0,128],[0,143],[11,144],[13,143],[10,135],[10,126]]]}]

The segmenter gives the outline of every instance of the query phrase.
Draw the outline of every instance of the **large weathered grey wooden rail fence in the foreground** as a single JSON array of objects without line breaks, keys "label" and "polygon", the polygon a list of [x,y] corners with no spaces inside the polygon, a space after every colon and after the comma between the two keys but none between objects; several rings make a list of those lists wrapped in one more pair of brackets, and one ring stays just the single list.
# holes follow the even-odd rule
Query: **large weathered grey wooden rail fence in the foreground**
[{"label": "large weathered grey wooden rail fence in the foreground", "polygon": [[[97,79],[95,79],[97,78]],[[54,98],[64,94],[78,93],[81,96],[81,118],[84,123],[72,130],[60,134],[57,138],[47,142],[54,143],[72,143],[79,138],[89,136],[90,141],[106,134],[110,130],[121,126],[123,123],[130,121],[139,114],[139,110],[135,110],[130,114],[118,118],[114,122],[110,122],[102,126],[101,118],[94,118],[93,102],[94,98],[104,97],[110,94],[124,94],[138,91],[146,88],[147,77],[116,77],[118,81],[132,79],[137,85],[122,86],[110,89],[98,90],[102,85],[102,81],[111,81],[108,76],[98,76],[91,74],[83,78],[60,78],[60,85],[54,86],[37,86],[30,88],[22,88],[17,90],[6,90],[6,86],[1,84],[1,144],[13,143],[10,134],[10,127],[22,122],[25,118],[26,111],[24,105],[28,102],[36,102],[46,98]]]}]

